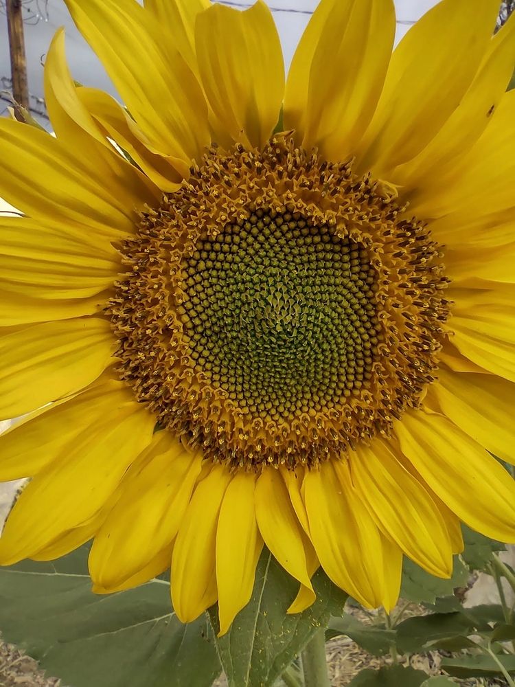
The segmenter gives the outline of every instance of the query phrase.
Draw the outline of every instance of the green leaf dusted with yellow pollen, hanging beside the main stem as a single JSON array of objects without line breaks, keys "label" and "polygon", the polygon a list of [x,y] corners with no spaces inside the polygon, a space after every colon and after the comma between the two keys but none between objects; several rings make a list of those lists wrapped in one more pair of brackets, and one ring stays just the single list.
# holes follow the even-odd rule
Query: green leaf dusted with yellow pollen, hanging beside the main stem
[{"label": "green leaf dusted with yellow pollen, hanging beside the main stem", "polygon": [[[304,649],[314,632],[331,615],[343,613],[347,596],[319,570],[312,579],[317,600],[303,613],[286,615],[299,590],[299,583],[264,551],[256,571],[254,590],[231,629],[218,638],[218,654],[229,687],[272,685]],[[218,632],[216,607],[210,611]],[[186,683],[185,683],[186,684]]]}]

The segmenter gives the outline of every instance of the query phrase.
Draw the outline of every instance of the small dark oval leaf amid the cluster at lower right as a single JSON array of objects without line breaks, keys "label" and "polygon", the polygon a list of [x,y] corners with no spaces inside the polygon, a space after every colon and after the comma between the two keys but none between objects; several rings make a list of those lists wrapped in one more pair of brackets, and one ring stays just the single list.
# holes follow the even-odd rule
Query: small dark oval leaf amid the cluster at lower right
[{"label": "small dark oval leaf amid the cluster at lower right", "polygon": [[397,627],[402,653],[420,651],[436,640],[466,638],[474,623],[461,613],[433,613],[403,620]]}]

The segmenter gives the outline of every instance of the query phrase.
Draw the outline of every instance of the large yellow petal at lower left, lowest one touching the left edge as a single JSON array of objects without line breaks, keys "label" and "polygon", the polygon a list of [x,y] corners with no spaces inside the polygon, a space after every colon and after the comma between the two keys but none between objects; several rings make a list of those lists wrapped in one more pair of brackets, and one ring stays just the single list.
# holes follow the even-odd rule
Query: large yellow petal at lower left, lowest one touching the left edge
[{"label": "large yellow petal at lower left, lowest one touching the left edge", "polygon": [[10,565],[40,552],[104,506],[128,466],[150,443],[155,420],[129,391],[108,414],[84,427],[73,444],[25,487],[0,537],[0,561]]}]

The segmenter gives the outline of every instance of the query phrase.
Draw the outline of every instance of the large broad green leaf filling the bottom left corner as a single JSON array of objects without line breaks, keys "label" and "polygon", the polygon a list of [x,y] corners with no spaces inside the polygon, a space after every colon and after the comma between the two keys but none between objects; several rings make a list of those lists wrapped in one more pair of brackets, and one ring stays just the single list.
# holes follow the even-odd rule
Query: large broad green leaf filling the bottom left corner
[{"label": "large broad green leaf filling the bottom left corner", "polygon": [[0,569],[4,640],[73,687],[210,687],[221,668],[209,622],[179,622],[162,581],[93,594],[87,556]]}]

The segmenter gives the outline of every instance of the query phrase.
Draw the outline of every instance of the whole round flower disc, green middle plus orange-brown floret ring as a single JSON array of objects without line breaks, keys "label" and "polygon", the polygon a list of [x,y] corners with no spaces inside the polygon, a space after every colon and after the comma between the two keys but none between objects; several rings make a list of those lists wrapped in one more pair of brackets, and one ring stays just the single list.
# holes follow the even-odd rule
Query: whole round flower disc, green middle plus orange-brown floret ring
[{"label": "whole round flower disc, green middle plus orange-brown floret ring", "polygon": [[121,251],[119,375],[211,460],[317,464],[433,381],[449,308],[431,234],[288,135],[209,150]]}]

